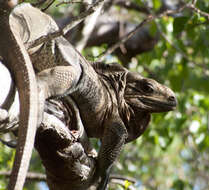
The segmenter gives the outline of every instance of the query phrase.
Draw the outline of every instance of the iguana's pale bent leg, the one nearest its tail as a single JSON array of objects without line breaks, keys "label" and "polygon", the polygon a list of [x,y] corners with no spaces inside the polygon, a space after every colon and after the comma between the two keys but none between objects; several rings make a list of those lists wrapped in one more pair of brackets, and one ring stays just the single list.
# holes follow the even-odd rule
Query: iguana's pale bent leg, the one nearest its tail
[{"label": "iguana's pale bent leg, the one nearest its tail", "polygon": [[41,110],[47,98],[65,96],[74,92],[82,77],[81,60],[77,51],[63,37],[56,38],[55,44],[58,48],[55,56],[61,56],[61,61],[67,62],[67,65],[51,67],[37,74]]}]

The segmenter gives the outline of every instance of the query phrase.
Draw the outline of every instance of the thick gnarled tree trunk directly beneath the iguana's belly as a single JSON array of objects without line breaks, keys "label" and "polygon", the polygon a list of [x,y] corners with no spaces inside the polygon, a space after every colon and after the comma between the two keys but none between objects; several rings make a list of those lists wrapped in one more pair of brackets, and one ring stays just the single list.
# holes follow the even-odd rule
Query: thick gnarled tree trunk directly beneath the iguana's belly
[{"label": "thick gnarled tree trunk directly beneath the iguana's belly", "polygon": [[[5,115],[4,111],[2,115]],[[5,117],[7,115],[3,119]],[[10,125],[10,121],[7,124]],[[94,187],[94,158],[97,153],[89,143],[73,100],[67,98],[63,102],[46,102],[43,121],[36,133],[35,147],[46,169],[50,190]]]}]

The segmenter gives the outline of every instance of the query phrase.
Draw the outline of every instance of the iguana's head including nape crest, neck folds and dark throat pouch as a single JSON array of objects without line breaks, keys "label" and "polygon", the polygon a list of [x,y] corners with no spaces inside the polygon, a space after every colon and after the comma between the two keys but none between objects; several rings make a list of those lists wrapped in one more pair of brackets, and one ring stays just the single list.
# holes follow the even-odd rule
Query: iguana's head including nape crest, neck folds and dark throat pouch
[{"label": "iguana's head including nape crest, neck folds and dark throat pouch", "polygon": [[177,105],[173,91],[153,79],[130,72],[119,64],[96,63],[93,67],[114,89],[118,111],[128,131],[126,143],[143,134],[151,113],[171,111]]}]

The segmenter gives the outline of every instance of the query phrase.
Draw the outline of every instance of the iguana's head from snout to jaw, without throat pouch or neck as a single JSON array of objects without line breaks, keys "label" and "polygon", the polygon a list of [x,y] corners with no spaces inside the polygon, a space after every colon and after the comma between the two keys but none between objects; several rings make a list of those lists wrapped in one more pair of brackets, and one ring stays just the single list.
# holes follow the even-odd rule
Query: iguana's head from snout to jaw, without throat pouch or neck
[{"label": "iguana's head from snout to jaw, without throat pouch or neck", "polygon": [[131,107],[149,113],[171,111],[177,105],[171,89],[137,73],[127,74],[124,96]]}]

